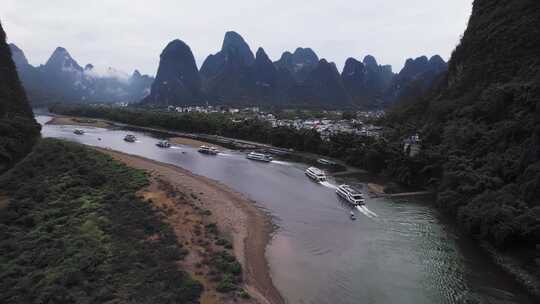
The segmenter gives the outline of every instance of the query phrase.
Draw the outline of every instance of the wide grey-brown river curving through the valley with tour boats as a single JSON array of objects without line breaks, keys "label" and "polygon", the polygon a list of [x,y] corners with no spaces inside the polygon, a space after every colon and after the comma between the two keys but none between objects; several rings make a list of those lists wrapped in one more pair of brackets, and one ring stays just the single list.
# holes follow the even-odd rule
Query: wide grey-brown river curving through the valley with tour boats
[{"label": "wide grey-brown river curving through the valley with tour boats", "polygon": [[353,221],[335,194],[338,183],[312,182],[304,164],[160,149],[157,138],[141,132],[130,132],[138,141],[126,143],[126,131],[82,128],[78,136],[73,129],[44,125],[42,134],[175,164],[257,201],[277,226],[266,254],[288,303],[535,303],[430,201],[367,199]]}]

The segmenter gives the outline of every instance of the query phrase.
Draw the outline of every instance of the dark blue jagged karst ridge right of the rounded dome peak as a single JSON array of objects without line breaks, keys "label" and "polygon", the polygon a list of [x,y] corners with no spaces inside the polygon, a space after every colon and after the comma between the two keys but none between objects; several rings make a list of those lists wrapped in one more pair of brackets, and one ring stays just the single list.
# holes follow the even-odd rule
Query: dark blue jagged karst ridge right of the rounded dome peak
[{"label": "dark blue jagged karst ridge right of the rounded dome peak", "polygon": [[[199,70],[202,80],[203,100],[177,98],[148,102],[144,105],[196,105],[196,104],[236,104],[268,106],[300,106],[323,108],[382,108],[398,100],[409,83],[419,83],[421,92],[427,90],[433,82],[432,70],[442,70],[446,63],[440,56],[419,57],[415,69],[409,61],[407,69],[399,74],[392,72],[389,65],[379,65],[372,55],[357,66],[356,77],[350,77],[352,69],[347,63],[340,73],[334,63],[319,59],[311,48],[298,47],[293,53],[285,51],[279,60],[272,62],[263,48],[259,47],[255,55],[242,38],[234,31],[225,33],[221,49],[206,57]],[[423,62],[425,58],[426,62]],[[352,61],[348,60],[349,64]],[[414,61],[412,61],[414,63]],[[428,66],[428,68],[424,67]],[[431,67],[434,65],[434,67]],[[336,73],[337,72],[337,73]],[[362,74],[362,76],[360,75]],[[339,77],[337,77],[339,76]],[[399,79],[399,80],[398,80]],[[394,84],[392,88],[392,84]],[[411,84],[412,86],[412,84]],[[157,90],[157,87],[156,87]],[[413,91],[416,93],[416,91]],[[157,92],[153,96],[165,96]]]}]

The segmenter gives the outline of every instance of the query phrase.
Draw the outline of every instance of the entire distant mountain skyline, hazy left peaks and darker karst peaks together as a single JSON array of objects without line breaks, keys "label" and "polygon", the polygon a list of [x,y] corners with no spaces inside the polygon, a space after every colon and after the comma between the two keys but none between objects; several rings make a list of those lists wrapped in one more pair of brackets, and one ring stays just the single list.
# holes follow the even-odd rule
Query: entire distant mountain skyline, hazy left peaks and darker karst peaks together
[{"label": "entire distant mountain skyline, hazy left peaks and darker karst peaks together", "polygon": [[145,106],[270,105],[278,107],[383,108],[424,93],[447,64],[436,55],[408,59],[395,74],[368,55],[347,59],[343,71],[310,48],[284,52],[273,62],[263,48],[254,54],[236,32],[227,32],[221,50],[209,55],[200,70],[190,47],[171,41],[160,56],[155,79],[110,68],[97,73],[82,68],[63,48],[45,65],[31,66],[10,45],[29,98],[41,101],[138,102]]}]

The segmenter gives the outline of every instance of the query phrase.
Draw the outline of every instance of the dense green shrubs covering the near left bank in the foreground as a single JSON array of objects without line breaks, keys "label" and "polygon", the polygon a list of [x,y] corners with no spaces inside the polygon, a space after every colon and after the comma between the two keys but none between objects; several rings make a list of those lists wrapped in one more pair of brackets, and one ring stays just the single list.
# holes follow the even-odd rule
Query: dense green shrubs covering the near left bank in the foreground
[{"label": "dense green shrubs covering the near left bank in the foreground", "polygon": [[135,192],[147,184],[83,146],[42,140],[0,177],[2,303],[193,303],[174,232]]}]

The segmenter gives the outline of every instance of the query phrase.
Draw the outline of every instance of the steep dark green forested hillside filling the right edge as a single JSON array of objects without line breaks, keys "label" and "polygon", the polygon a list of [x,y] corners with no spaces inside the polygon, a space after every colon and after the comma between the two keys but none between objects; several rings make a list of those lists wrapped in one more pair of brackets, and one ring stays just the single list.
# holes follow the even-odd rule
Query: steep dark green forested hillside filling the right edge
[{"label": "steep dark green forested hillside filling the right edge", "polygon": [[540,2],[476,0],[448,75],[389,115],[438,204],[499,246],[540,243]]}]

